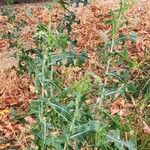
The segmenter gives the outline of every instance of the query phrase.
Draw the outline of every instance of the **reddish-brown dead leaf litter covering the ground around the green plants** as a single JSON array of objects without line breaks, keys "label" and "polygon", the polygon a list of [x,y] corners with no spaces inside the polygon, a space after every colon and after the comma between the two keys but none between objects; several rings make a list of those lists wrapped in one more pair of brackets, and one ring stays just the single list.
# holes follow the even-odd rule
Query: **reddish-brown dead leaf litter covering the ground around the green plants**
[{"label": "reddish-brown dead leaf litter covering the ground around the green plants", "polygon": [[[70,38],[77,42],[74,50],[79,53],[84,49],[87,52],[89,59],[85,62],[82,69],[78,67],[65,68],[64,66],[56,69],[58,72],[61,72],[60,78],[62,78],[63,86],[69,85],[70,83],[72,84],[73,81],[80,80],[84,76],[85,70],[94,72],[102,79],[105,78],[103,74],[105,66],[99,63],[101,60],[97,50],[101,51],[101,46],[109,36],[111,36],[107,34],[108,30],[111,29],[111,26],[106,25],[105,22],[111,17],[109,11],[118,7],[118,0],[93,0],[91,4],[86,7],[71,6],[68,8],[75,12],[76,19],[80,20],[80,24],[73,23],[71,26],[72,30]],[[135,3],[131,3],[130,9],[125,15],[127,25],[119,30],[125,35],[131,34],[131,31],[136,32],[138,35],[136,43],[126,43],[129,50],[129,57],[135,58],[139,64],[142,64],[140,70],[135,68],[130,72],[131,78],[136,81],[135,83],[142,82],[141,77],[143,77],[144,80],[144,78],[149,78],[150,75],[149,7],[150,1],[148,0],[139,0]],[[16,17],[13,23],[9,22],[8,17],[3,16],[2,13],[0,14],[0,34],[15,32],[12,29],[16,28],[18,22],[25,22],[19,29],[19,38],[13,39],[13,42],[17,43],[17,48],[19,48],[20,43],[25,50],[34,48],[35,43],[33,40],[33,33],[36,32],[37,25],[39,23],[44,23],[47,26],[50,26],[49,22],[51,21],[51,26],[55,29],[62,20],[63,11],[64,10],[58,5],[56,5],[51,12],[40,5],[16,5],[14,7]],[[70,45],[68,45],[68,48],[69,47]],[[0,142],[2,143],[0,143],[0,149],[8,149],[13,146],[20,148],[22,143],[28,145],[28,139],[30,137],[33,138],[32,135],[29,134],[29,130],[31,128],[30,124],[34,122],[34,119],[31,116],[25,118],[25,120],[29,120],[27,120],[29,124],[25,125],[14,120],[12,117],[13,108],[15,108],[17,115],[24,115],[28,111],[31,99],[37,98],[35,97],[35,94],[33,94],[32,78],[27,74],[18,75],[17,73],[19,66],[17,48],[10,48],[10,41],[8,39],[0,39],[0,134],[2,136],[2,139],[0,139]],[[122,66],[115,68],[114,70],[121,71],[121,69]],[[93,96],[90,98],[94,99]],[[136,131],[138,131],[138,135],[141,134],[142,137],[149,136],[149,121],[145,120],[145,118],[147,119],[147,114],[144,114],[145,111],[149,111],[149,103],[145,104],[145,102],[142,101],[143,95],[137,97],[137,99],[139,99],[139,101],[133,103],[132,100],[117,95],[116,99],[113,102],[108,101],[105,107],[108,108],[108,111],[112,116],[115,116],[116,114],[120,115],[122,121],[121,124],[126,122],[128,116],[134,116],[131,123],[131,128],[133,128],[133,130],[129,136],[132,137]],[[96,100],[93,101],[95,102]],[[87,103],[91,104],[90,102],[87,101]],[[140,139],[139,142],[141,142]]]}]

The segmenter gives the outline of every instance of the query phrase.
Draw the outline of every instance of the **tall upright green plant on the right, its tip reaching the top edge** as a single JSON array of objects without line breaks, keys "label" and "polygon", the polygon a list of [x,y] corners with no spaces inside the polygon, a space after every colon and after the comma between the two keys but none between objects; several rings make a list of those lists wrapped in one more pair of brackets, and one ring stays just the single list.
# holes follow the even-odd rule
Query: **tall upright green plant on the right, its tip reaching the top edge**
[{"label": "tall upright green plant on the right, its tip reaching the top edge", "polygon": [[[120,8],[115,11],[111,11],[111,19],[106,22],[111,26],[111,31],[109,32],[110,39],[105,41],[104,51],[100,53],[101,60],[105,65],[104,81],[101,82],[101,100],[112,98],[118,93],[122,96],[126,92],[135,91],[132,87],[132,83],[127,83],[129,79],[129,72],[126,68],[123,71],[118,71],[117,68],[121,66],[124,62],[127,62],[128,67],[137,67],[138,63],[136,60],[129,58],[127,48],[120,50],[119,45],[127,40],[124,34],[119,34],[119,29],[125,25],[124,14],[127,11],[129,5],[127,1],[120,1]],[[111,82],[114,80],[113,82]],[[109,82],[109,83],[108,83]]]}]

